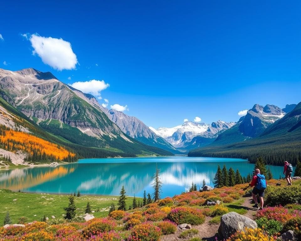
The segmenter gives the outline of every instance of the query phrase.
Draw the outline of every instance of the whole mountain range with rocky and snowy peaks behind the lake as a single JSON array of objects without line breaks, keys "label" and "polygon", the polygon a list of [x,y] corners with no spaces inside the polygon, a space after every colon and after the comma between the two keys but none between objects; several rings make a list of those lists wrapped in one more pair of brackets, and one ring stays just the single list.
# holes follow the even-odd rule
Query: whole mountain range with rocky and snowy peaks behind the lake
[{"label": "whole mountain range with rocky and snowy peaks behind the lake", "polygon": [[[291,146],[294,147],[300,140],[300,103],[288,104],[283,109],[271,104],[255,104],[237,122],[185,121],[172,128],[155,129],[134,116],[104,108],[93,95],[62,83],[50,72],[33,68],[0,69],[0,96],[0,126],[58,144],[78,158],[189,152],[190,156],[253,160],[259,150],[261,155],[267,156],[271,145],[278,145],[279,151],[283,150],[283,140],[286,143],[293,140]],[[1,148],[4,147],[3,144]]]}]

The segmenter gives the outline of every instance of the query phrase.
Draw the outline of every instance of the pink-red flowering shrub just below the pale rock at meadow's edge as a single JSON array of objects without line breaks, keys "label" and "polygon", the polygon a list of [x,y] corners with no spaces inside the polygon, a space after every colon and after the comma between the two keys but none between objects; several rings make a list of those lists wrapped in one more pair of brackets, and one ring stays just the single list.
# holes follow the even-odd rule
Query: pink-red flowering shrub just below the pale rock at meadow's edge
[{"label": "pink-red flowering shrub just below the pale rock at meadow's edge", "polygon": [[85,238],[89,238],[92,235],[109,232],[115,227],[116,223],[111,219],[92,219],[90,223],[82,230],[82,234]]}]

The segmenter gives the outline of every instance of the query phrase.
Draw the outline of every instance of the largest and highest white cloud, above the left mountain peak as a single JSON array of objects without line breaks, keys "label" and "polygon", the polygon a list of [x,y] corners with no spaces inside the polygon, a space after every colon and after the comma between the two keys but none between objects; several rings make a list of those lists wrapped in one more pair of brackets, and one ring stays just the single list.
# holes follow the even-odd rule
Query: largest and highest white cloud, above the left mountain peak
[{"label": "largest and highest white cloud, above the left mountain peak", "polygon": [[57,70],[75,69],[77,57],[72,51],[70,42],[37,34],[31,35],[29,41],[34,48],[33,55],[37,54],[43,63]]}]

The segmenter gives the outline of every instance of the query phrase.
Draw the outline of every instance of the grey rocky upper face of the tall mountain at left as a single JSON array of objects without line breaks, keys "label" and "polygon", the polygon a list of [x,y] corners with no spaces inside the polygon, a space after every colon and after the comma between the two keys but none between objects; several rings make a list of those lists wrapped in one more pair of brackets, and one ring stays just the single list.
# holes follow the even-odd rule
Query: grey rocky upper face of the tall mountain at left
[{"label": "grey rocky upper face of the tall mountain at left", "polygon": [[56,119],[98,138],[131,142],[102,110],[87,102],[91,95],[60,82],[50,72],[0,69],[0,88],[4,99],[29,117]]}]

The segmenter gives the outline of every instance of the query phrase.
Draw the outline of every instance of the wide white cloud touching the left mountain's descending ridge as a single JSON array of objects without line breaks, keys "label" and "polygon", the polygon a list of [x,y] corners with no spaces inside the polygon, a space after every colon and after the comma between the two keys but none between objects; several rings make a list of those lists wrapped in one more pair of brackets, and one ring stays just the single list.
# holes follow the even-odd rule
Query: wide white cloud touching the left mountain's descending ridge
[{"label": "wide white cloud touching the left mountain's descending ridge", "polygon": [[105,83],[103,80],[96,80],[92,79],[89,81],[84,82],[74,82],[73,84],[69,84],[73,88],[79,89],[84,93],[90,93],[94,96],[100,97],[100,92],[106,88],[108,88],[110,85],[108,83]]}]

